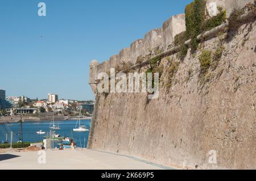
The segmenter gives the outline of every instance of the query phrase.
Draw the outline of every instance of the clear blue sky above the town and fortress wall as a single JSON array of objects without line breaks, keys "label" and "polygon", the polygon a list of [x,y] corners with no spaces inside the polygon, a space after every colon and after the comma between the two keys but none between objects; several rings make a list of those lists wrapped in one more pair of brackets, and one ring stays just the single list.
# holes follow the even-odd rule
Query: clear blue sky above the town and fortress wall
[{"label": "clear blue sky above the town and fortress wall", "polygon": [[[39,2],[46,3],[46,17],[38,16]],[[0,89],[10,96],[94,99],[90,61],[109,60],[190,2],[1,0]]]}]

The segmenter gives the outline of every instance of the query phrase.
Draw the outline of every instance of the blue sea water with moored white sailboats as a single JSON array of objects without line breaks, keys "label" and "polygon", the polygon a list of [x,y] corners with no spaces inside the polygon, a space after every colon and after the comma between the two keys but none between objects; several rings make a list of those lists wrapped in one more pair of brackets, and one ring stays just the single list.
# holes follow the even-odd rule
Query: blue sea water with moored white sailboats
[{"label": "blue sea water with moored white sailboats", "polygon": [[[11,134],[13,132],[13,142],[18,142],[22,139],[20,134],[19,123],[0,124],[0,142],[7,140],[10,142]],[[43,141],[44,136],[49,136],[51,121],[24,121],[22,123],[23,142],[40,142]],[[76,127],[77,120],[55,120],[55,125],[59,125],[60,130],[55,131],[55,134],[60,134],[61,137],[72,138],[77,147],[86,148],[89,132],[73,132],[73,128]],[[80,125],[85,125],[87,129],[90,129],[91,120],[81,120]],[[77,125],[78,127],[78,125]],[[36,132],[42,130],[46,134],[39,135]]]}]

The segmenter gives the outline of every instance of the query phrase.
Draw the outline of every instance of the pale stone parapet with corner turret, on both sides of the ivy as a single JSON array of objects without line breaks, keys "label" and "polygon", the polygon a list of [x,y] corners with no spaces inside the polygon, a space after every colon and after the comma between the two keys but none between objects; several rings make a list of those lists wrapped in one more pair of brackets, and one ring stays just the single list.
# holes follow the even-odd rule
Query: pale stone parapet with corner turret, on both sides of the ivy
[{"label": "pale stone parapet with corner turret, on both sides of the ivy", "polygon": [[[254,0],[207,0],[207,9],[210,15],[215,15],[216,7],[222,7],[230,15],[233,9],[241,9],[247,3],[253,3]],[[214,4],[215,3],[215,6]],[[172,16],[163,23],[162,28],[151,30],[146,33],[143,39],[139,39],[131,43],[129,48],[123,48],[119,54],[110,57],[109,61],[98,63],[93,60],[90,64],[89,84],[93,92],[96,91],[97,75],[102,72],[108,72],[110,68],[115,68],[121,62],[131,62],[135,64],[139,56],[150,54],[155,48],[167,50],[169,45],[174,43],[177,34],[185,31],[185,15],[179,14]]]}]

